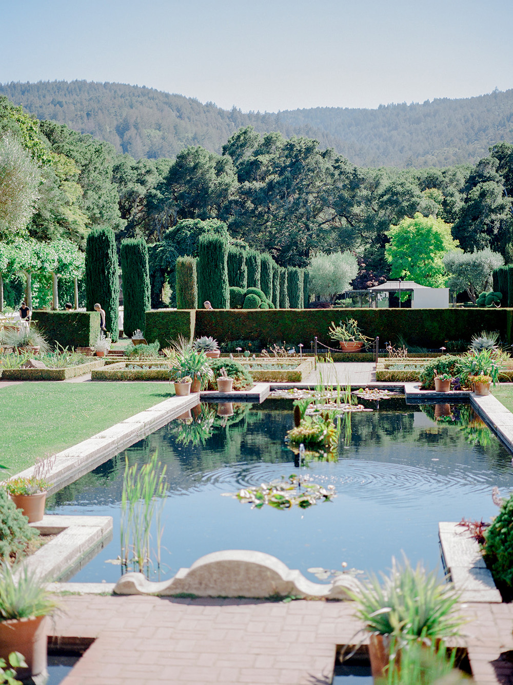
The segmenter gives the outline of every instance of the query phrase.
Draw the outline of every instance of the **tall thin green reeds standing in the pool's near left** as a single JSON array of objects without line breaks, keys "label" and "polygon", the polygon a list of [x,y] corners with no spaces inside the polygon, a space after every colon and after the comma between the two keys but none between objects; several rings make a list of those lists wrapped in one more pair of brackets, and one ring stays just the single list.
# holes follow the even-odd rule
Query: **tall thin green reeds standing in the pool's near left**
[{"label": "tall thin green reeds standing in the pool's near left", "polygon": [[126,466],[121,495],[120,540],[121,563],[126,571],[130,564],[140,573],[151,563],[151,530],[156,528],[156,558],[160,566],[162,510],[166,495],[166,466],[161,466],[155,451],[148,464]]}]

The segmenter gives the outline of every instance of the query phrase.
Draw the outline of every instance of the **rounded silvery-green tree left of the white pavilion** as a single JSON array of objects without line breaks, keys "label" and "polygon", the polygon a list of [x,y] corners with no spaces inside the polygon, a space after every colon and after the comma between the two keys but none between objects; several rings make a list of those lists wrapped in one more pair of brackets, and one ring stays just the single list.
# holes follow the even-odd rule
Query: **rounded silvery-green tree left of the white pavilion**
[{"label": "rounded silvery-green tree left of the white pavilion", "polygon": [[349,288],[358,273],[358,262],[350,252],[317,253],[308,266],[308,284],[311,295],[334,302],[339,293]]}]

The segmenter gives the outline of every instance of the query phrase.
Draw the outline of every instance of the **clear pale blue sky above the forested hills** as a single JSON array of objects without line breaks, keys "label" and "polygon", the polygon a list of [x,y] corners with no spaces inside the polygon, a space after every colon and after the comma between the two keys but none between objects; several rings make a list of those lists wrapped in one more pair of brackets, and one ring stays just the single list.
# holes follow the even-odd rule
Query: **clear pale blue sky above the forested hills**
[{"label": "clear pale blue sky above the forested hills", "polygon": [[0,0],[0,82],[121,82],[243,112],[513,88],[512,0]]}]

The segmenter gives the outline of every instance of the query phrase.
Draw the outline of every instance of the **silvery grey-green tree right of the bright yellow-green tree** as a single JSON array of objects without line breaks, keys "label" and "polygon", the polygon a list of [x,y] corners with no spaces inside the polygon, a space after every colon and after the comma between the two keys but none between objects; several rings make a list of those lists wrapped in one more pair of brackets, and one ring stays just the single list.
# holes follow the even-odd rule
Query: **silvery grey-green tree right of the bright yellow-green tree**
[{"label": "silvery grey-green tree right of the bright yellow-green tree", "polygon": [[474,304],[477,295],[492,288],[492,273],[503,264],[503,256],[489,247],[473,252],[452,250],[443,257],[450,276],[447,285],[457,292],[466,290]]}]

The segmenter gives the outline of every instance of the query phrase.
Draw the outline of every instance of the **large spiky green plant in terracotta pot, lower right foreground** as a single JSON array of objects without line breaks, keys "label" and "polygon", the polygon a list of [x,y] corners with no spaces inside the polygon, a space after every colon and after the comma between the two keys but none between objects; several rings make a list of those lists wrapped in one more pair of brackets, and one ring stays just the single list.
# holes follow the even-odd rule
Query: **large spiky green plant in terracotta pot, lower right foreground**
[{"label": "large spiky green plant in terracotta pot, lower right foreground", "polygon": [[[421,564],[392,559],[390,575],[382,582],[371,575],[369,584],[352,593],[356,616],[370,633],[369,658],[374,679],[382,677],[389,656],[410,643],[432,644],[458,635],[463,621],[456,613],[459,595],[451,584]],[[392,648],[392,649],[391,649]]]}]

